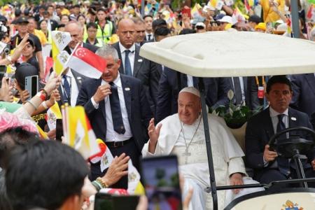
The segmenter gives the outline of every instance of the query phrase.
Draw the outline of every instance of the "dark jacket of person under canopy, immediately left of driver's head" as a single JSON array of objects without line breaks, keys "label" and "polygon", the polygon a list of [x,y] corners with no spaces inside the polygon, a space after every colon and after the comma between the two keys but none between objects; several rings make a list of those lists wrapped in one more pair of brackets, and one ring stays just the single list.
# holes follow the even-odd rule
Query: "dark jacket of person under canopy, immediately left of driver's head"
[{"label": "dark jacket of person under canopy, immediately left of driver's head", "polygon": [[[233,87],[232,79],[233,78],[231,77],[230,78],[231,87]],[[258,106],[260,106],[260,102],[258,99],[257,86],[252,85],[254,79],[255,78],[251,77],[251,76],[248,76],[248,77],[243,76],[245,103],[246,103],[246,106],[248,106],[249,109],[251,109],[251,110],[256,109],[256,108],[258,108]]]}]

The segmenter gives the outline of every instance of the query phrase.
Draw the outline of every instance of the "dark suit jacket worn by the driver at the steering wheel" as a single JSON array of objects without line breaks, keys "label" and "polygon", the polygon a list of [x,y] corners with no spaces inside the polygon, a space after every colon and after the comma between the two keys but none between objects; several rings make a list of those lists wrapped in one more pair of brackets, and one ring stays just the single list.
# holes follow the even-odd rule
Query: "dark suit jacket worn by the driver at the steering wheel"
[{"label": "dark suit jacket worn by the driver at the steering wheel", "polygon": [[[289,127],[311,127],[309,117],[307,114],[297,111],[295,109],[288,109]],[[290,132],[290,135],[300,134],[304,136],[304,132]],[[246,165],[254,169],[254,174],[268,169],[272,164],[269,163],[264,167],[263,153],[265,145],[268,144],[270,138],[274,135],[274,127],[272,126],[272,119],[270,118],[269,108],[261,111],[257,115],[248,120],[245,135],[245,157]],[[308,155],[309,160],[314,159],[314,151]],[[311,165],[304,165],[304,167],[311,167]]]}]

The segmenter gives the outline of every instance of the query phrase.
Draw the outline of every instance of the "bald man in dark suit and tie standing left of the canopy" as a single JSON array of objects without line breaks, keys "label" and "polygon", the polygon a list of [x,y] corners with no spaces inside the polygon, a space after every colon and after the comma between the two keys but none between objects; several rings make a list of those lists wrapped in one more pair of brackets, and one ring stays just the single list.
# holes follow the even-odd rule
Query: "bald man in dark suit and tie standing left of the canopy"
[{"label": "bald man in dark suit and tie standing left of the canopy", "polygon": [[[158,85],[158,78],[151,76],[150,62],[144,57],[140,57],[140,47],[134,44],[135,25],[130,19],[123,19],[118,22],[117,35],[119,42],[114,43],[113,47],[118,52],[119,59],[122,61],[119,72],[128,76],[139,78],[146,89],[146,96],[155,111],[151,90]],[[126,56],[127,55],[127,56]]]}]

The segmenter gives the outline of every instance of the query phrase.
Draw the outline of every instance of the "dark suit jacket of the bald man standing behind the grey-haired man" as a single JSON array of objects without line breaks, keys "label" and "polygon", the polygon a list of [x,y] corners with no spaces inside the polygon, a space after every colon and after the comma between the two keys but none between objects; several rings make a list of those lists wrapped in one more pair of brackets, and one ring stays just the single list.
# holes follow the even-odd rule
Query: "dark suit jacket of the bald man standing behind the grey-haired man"
[{"label": "dark suit jacket of the bald man standing behind the grey-haired man", "polygon": [[[119,59],[123,62],[119,42],[114,43],[113,47],[116,48]],[[148,98],[151,110],[153,111],[153,113],[155,113],[155,104],[153,100],[153,94],[151,92],[155,92],[158,89],[159,78],[154,76],[154,73],[151,73],[150,61],[148,59],[145,59],[144,57],[141,57],[139,55],[139,52],[140,47],[138,45],[135,45],[134,71],[132,73],[132,76],[134,76],[135,78],[139,78],[139,80],[141,80],[141,82],[144,84],[144,87],[146,89],[146,97]],[[123,63],[120,64],[119,72],[125,73]]]}]

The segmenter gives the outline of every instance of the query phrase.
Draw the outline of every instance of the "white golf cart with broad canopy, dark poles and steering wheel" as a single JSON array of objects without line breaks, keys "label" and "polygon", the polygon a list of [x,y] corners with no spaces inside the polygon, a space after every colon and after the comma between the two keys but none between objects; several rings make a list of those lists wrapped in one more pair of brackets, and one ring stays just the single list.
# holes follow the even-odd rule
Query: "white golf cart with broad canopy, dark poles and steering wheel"
[{"label": "white golf cart with broad canopy, dark poles and steering wheel", "polygon": [[[275,181],[269,185],[216,186],[202,80],[204,77],[313,73],[315,72],[315,42],[256,32],[211,31],[203,34],[172,36],[158,43],[146,43],[142,46],[140,55],[181,73],[200,77],[199,88],[202,95],[211,183],[207,190],[211,192],[214,201],[213,209],[218,209],[217,190],[261,186],[268,189],[279,183],[300,183],[302,188],[286,188],[281,191],[265,190],[244,195],[231,202],[226,209],[315,209],[315,189],[307,188],[305,182],[315,181],[315,178],[305,179],[300,163],[302,155],[314,147],[315,141],[315,132],[305,127],[283,130],[269,141],[276,150],[295,160],[299,169],[299,179]],[[286,139],[285,145],[276,141],[280,134],[291,130],[309,132],[314,141],[300,137]]]}]

